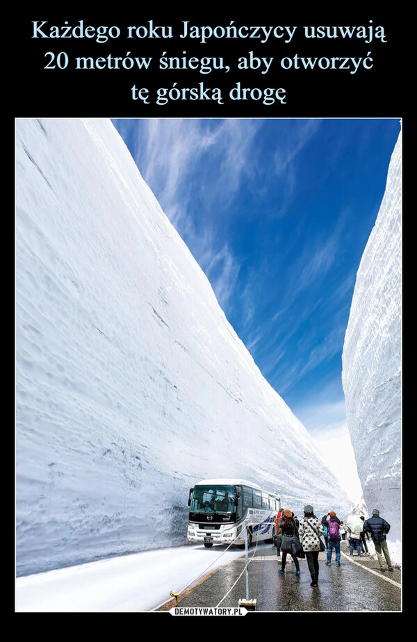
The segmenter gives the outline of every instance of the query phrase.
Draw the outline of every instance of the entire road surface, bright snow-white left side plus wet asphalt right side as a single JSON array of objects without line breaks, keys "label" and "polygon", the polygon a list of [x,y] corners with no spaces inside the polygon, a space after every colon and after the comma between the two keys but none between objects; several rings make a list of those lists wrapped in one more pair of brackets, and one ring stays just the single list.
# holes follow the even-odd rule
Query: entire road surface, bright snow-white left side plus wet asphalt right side
[{"label": "entire road surface, bright snow-white left side plus wet asphalt right side", "polygon": [[[177,605],[236,608],[240,600],[255,600],[257,613],[400,612],[400,568],[382,575],[376,559],[350,557],[346,543],[341,550],[341,568],[325,566],[325,554],[320,553],[318,589],[310,586],[305,560],[300,561],[300,577],[295,577],[290,563],[286,575],[278,575],[279,561],[271,544],[252,545],[248,564],[245,552],[226,545],[152,550],[17,577],[15,611],[142,611],[154,617],[157,611]],[[178,593],[177,598],[171,600],[171,591]],[[165,616],[170,614],[158,619]]]}]

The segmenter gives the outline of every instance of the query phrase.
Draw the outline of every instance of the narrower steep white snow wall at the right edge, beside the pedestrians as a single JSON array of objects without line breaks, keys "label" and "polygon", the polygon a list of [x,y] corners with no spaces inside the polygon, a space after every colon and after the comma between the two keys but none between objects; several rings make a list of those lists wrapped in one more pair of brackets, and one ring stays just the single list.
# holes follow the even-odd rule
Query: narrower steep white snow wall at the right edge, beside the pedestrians
[{"label": "narrower steep white snow wall at the right edge, beside the pedestrians", "polygon": [[[363,252],[343,346],[343,390],[363,498],[401,541],[401,133]],[[397,556],[396,556],[397,557]]]}]

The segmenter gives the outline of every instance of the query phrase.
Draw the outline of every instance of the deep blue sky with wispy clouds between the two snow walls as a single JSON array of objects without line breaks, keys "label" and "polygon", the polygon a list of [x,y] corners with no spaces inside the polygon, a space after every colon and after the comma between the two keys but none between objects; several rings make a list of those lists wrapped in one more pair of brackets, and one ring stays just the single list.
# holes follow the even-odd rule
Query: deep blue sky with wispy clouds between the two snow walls
[{"label": "deep blue sky with wispy clouds between the two snow walls", "polygon": [[113,119],[265,379],[314,434],[400,119]]}]

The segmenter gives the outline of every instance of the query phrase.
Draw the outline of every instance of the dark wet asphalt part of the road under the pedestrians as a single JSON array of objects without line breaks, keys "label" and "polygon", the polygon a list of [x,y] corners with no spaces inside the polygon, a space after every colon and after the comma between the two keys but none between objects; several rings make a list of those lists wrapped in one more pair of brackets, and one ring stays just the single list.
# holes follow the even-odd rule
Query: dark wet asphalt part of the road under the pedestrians
[{"label": "dark wet asphalt part of the road under the pedestrians", "polygon": [[[289,558],[291,559],[291,558]],[[401,570],[382,573],[376,559],[349,554],[341,543],[341,566],[326,566],[325,553],[319,554],[318,587],[310,586],[311,577],[305,559],[300,560],[301,575],[295,575],[294,564],[286,564],[285,575],[279,575],[281,560],[271,544],[252,545],[246,559],[238,557],[204,577],[197,585],[179,595],[159,611],[173,607],[238,607],[249,611],[402,611]],[[249,614],[248,614],[249,615]]]}]

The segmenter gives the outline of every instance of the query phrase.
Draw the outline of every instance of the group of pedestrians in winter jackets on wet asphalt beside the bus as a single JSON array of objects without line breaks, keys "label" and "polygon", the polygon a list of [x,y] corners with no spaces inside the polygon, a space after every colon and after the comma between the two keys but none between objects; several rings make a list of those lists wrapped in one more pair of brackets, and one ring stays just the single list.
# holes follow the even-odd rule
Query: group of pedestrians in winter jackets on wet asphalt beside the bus
[{"label": "group of pedestrians in winter jackets on wet asphalt beside the bus", "polygon": [[[336,566],[341,566],[341,541],[348,537],[350,554],[357,550],[358,556],[362,551],[368,553],[367,539],[372,539],[375,545],[375,552],[379,561],[379,567],[384,572],[384,561],[388,570],[393,570],[389,556],[386,535],[391,526],[379,516],[379,510],[374,509],[372,517],[363,521],[363,529],[360,533],[354,533],[341,520],[335,511],[329,511],[321,520],[314,514],[311,504],[304,506],[304,517],[299,521],[289,509],[281,510],[277,514],[275,522],[277,541],[277,555],[281,557],[281,568],[279,575],[285,575],[285,567],[288,554],[291,555],[295,566],[295,575],[300,575],[300,563],[293,550],[293,541],[297,540],[302,544],[302,550],[306,558],[309,573],[311,575],[310,586],[318,586],[319,563],[318,554],[320,550],[326,551],[326,566],[332,564],[332,554]],[[325,537],[326,545],[320,541],[321,536]],[[384,556],[384,557],[382,557]]]}]

